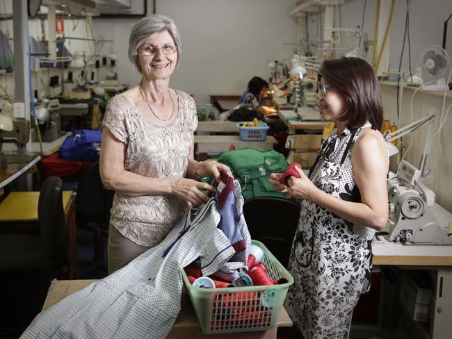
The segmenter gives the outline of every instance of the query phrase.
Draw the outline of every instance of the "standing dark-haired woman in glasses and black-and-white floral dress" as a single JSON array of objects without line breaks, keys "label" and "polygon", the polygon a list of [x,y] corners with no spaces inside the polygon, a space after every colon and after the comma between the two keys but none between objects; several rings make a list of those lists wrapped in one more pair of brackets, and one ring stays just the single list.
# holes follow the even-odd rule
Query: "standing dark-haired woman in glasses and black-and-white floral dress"
[{"label": "standing dark-haired woman in glasses and black-and-white floral dress", "polygon": [[301,199],[286,308],[305,339],[348,338],[353,308],[371,282],[371,240],[388,218],[389,157],[379,130],[380,88],[360,58],[327,60],[318,82],[322,119],[336,124],[306,176],[296,168],[276,190]]}]

